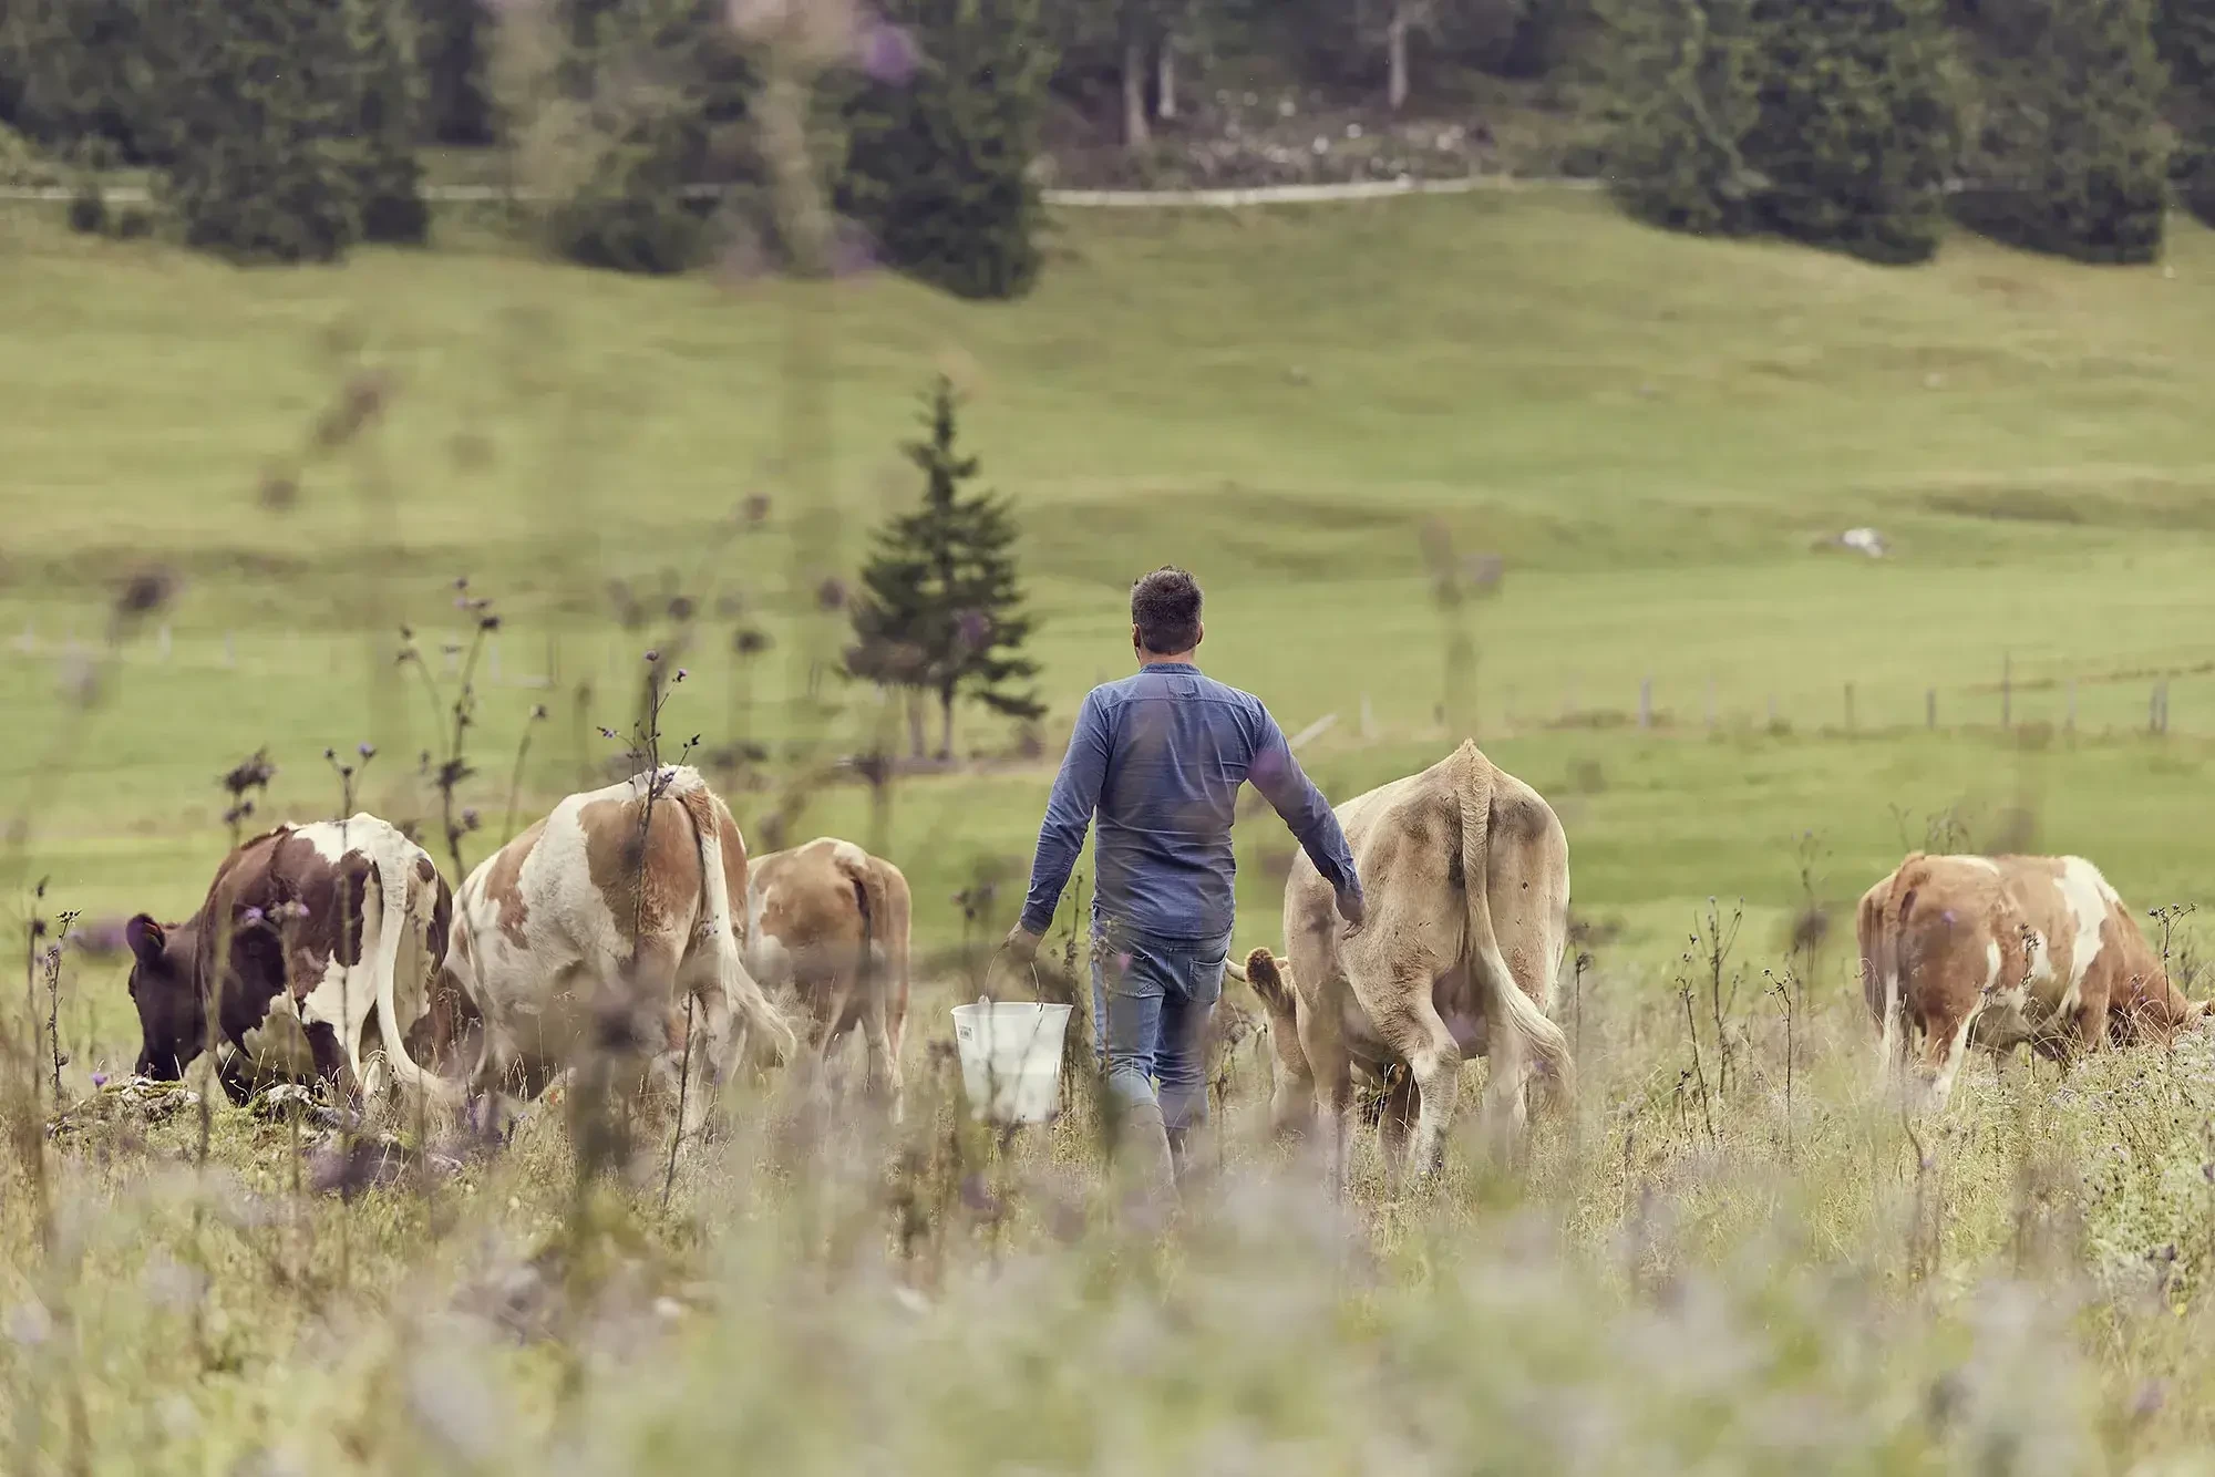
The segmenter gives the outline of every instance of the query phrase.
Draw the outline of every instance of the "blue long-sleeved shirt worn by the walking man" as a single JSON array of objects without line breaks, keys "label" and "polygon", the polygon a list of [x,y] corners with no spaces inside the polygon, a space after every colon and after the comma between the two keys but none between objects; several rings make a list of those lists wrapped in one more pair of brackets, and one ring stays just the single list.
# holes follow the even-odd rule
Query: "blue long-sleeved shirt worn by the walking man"
[{"label": "blue long-sleeved shirt worn by the walking man", "polygon": [[1163,939],[1214,939],[1236,915],[1232,819],[1254,782],[1340,895],[1360,895],[1347,833],[1260,698],[1154,662],[1085,695],[1039,826],[1023,928],[1043,937],[1099,815],[1092,919]]}]

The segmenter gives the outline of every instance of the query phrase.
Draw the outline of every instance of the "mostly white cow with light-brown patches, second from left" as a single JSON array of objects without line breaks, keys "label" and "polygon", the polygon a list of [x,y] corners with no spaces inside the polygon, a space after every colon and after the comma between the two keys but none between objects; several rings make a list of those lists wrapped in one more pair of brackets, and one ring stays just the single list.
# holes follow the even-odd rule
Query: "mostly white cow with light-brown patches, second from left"
[{"label": "mostly white cow with light-brown patches, second from left", "polygon": [[[687,996],[713,1081],[731,1067],[733,1010],[789,1058],[793,1030],[740,957],[744,901],[746,841],[698,771],[563,799],[456,897],[447,968],[483,1021],[476,1085],[518,1074],[543,1087],[587,1052],[651,1061],[676,1081]],[[687,1094],[687,1132],[702,1096]]]}]

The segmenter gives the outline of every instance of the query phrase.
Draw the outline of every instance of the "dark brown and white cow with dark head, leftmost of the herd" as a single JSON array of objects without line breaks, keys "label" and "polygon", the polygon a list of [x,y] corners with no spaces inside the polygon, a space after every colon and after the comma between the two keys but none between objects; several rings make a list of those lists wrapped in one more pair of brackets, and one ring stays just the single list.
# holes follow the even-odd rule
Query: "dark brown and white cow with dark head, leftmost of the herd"
[{"label": "dark brown and white cow with dark head, leftmost of the herd", "polygon": [[357,1096],[374,1019],[401,1085],[454,1096],[405,1045],[432,1010],[450,919],[439,866],[374,815],[259,835],[224,857],[186,921],[142,912],[124,923],[137,1072],[184,1076],[208,1047],[213,1016],[233,1101],[259,1081],[317,1076]]}]

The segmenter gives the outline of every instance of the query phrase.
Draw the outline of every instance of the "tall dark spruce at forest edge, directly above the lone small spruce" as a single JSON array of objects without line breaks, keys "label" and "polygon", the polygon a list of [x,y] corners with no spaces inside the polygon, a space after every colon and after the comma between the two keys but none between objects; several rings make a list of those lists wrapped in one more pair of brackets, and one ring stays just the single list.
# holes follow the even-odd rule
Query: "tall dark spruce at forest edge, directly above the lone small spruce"
[{"label": "tall dark spruce at forest edge, directly above the lone small spruce", "polygon": [[1021,297],[1039,279],[1043,206],[1030,177],[1054,71],[1039,0],[895,0],[913,80],[846,106],[837,204],[886,261],[957,297]]}]

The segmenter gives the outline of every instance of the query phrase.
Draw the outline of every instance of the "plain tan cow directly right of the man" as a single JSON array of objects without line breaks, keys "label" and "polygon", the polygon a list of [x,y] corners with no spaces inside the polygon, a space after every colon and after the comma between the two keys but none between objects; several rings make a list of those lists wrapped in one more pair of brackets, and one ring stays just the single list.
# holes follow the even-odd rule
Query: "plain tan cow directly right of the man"
[{"label": "plain tan cow directly right of the man", "polygon": [[1331,888],[1300,857],[1285,881],[1289,963],[1269,950],[1247,957],[1285,1067],[1274,1116],[1294,1129],[1313,1101],[1342,1182],[1360,1070],[1398,1094],[1384,1116],[1389,1154],[1413,1109],[1409,1167],[1424,1176],[1469,1056],[1491,1058],[1484,1116],[1495,1134],[1524,1123],[1533,1056],[1575,1092],[1568,1039],[1546,1019],[1568,939],[1568,837],[1537,791],[1469,742],[1420,775],[1356,795],[1338,822],[1369,895],[1367,926],[1340,932]]}]

